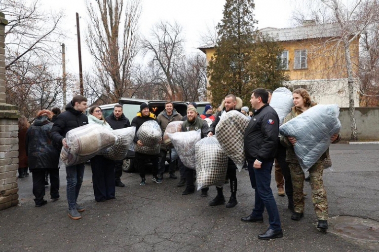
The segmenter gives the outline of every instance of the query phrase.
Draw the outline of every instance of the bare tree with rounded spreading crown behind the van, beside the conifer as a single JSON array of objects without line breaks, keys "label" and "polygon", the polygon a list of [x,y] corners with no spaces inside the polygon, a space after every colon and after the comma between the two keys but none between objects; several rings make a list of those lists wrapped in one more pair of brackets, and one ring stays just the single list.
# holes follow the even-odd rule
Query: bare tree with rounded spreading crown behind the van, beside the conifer
[{"label": "bare tree with rounded spreading crown behind the van, beside the conifer", "polygon": [[145,54],[152,54],[152,69],[160,72],[154,82],[160,83],[168,100],[176,100],[179,95],[174,72],[183,59],[182,30],[178,23],[161,21],[153,27],[151,37],[142,41]]}]

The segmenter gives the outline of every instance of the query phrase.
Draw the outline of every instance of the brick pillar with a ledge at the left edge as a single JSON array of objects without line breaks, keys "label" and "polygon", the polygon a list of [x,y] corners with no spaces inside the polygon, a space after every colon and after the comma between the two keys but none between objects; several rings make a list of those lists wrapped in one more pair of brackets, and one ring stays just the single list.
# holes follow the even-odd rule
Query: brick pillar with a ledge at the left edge
[{"label": "brick pillar with a ledge at the left edge", "polygon": [[8,21],[0,12],[0,210],[18,204],[18,118],[17,107],[5,103],[4,30]]}]

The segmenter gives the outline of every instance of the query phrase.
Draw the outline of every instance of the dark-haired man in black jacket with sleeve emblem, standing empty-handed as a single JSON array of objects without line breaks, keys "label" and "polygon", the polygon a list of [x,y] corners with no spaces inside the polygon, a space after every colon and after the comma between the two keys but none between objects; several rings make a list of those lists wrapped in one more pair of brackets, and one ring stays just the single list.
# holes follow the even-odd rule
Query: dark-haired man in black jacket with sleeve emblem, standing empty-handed
[{"label": "dark-haired man in black jacket with sleeve emblem, standing empty-handed", "polygon": [[251,215],[241,218],[245,222],[263,222],[267,209],[269,228],[259,239],[283,237],[278,208],[270,187],[278,136],[279,117],[267,104],[268,92],[263,88],[253,90],[251,105],[255,109],[245,132],[245,153],[251,186],[255,189],[255,205]]}]

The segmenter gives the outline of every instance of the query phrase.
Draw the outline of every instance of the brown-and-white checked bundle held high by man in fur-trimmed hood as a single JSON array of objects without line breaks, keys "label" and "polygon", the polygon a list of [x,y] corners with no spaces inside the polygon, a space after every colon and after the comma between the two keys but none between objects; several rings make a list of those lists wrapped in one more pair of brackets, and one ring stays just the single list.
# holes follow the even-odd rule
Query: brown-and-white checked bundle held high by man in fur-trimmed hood
[{"label": "brown-and-white checked bundle held high by man in fur-trimmed hood", "polygon": [[231,110],[221,117],[216,126],[219,143],[239,171],[246,162],[243,139],[249,121],[241,112]]}]

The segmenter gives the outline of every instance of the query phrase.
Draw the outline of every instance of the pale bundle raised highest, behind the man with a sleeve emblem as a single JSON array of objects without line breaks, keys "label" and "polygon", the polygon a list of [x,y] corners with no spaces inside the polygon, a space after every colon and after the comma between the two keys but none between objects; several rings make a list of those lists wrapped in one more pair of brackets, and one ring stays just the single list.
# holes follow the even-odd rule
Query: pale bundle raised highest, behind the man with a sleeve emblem
[{"label": "pale bundle raised highest, behind the man with a sleeve emblem", "polygon": [[279,126],[283,124],[284,117],[291,112],[294,107],[292,92],[285,87],[279,87],[272,92],[270,107],[275,109],[279,116]]}]

